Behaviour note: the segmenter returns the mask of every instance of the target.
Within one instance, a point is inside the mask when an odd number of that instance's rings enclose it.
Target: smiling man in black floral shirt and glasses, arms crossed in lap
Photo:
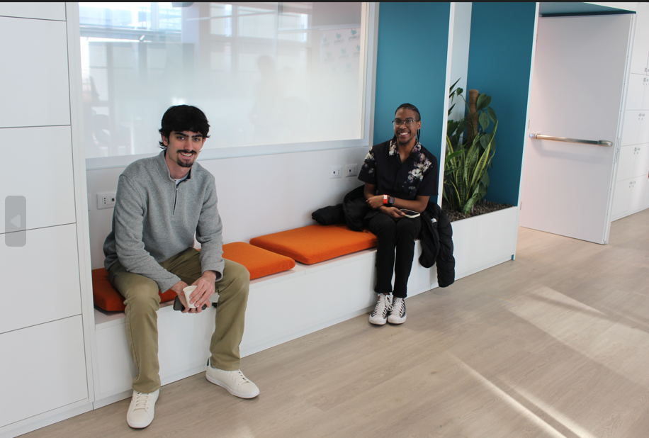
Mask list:
[[[437,159],[419,143],[422,120],[417,107],[402,104],[393,125],[395,136],[371,147],[359,174],[372,208],[363,222],[378,237],[374,288],[378,296],[370,315],[376,325],[406,320],[404,299],[422,218],[407,218],[400,209],[422,213],[429,198],[437,195]]]

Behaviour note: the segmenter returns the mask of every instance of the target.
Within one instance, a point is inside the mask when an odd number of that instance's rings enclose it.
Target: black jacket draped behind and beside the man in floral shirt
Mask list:
[[[363,218],[371,211],[363,196],[365,186],[357,187],[345,195],[342,208],[347,226],[354,231],[363,230]],[[451,286],[455,281],[455,259],[453,258],[453,229],[439,206],[429,202],[422,213],[422,255],[419,263],[424,268],[437,264],[437,284],[441,288]]]

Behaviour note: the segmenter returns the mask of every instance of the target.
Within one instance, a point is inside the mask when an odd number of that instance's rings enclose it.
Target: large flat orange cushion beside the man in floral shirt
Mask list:
[[[376,247],[371,232],[352,231],[343,224],[308,225],[273,234],[254,237],[251,245],[305,264],[314,264],[351,252]]]

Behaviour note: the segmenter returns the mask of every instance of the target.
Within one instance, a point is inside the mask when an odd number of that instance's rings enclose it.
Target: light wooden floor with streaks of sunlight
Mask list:
[[[147,429],[123,400],[24,436],[649,437],[649,210],[606,246],[521,228],[514,262],[407,306],[244,358],[254,400],[198,374]]]

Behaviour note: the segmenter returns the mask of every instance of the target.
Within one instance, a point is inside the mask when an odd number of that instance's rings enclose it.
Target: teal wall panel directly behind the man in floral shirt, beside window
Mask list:
[[[375,144],[393,137],[397,106],[412,103],[422,114],[422,145],[440,162],[450,11],[450,3],[380,4]]]

